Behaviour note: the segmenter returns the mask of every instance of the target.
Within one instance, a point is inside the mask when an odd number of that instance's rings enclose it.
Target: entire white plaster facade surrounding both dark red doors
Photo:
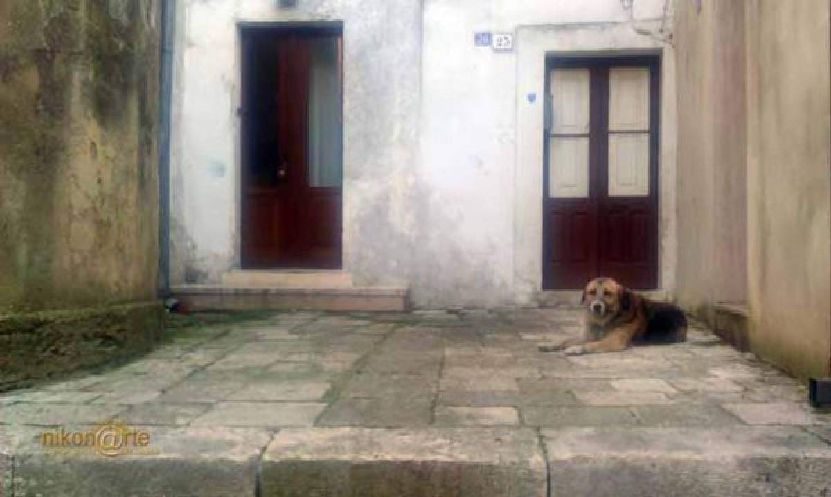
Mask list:
[[[670,91],[667,2],[184,2],[174,283],[215,283],[238,263],[236,22],[344,22],[344,261],[356,283],[409,284],[418,308],[492,308],[533,303],[541,286],[544,52],[662,52]],[[514,32],[514,52],[475,47],[480,31]],[[540,96],[533,105],[529,91]],[[671,291],[675,157],[666,137],[675,117],[666,91],[661,285]]]

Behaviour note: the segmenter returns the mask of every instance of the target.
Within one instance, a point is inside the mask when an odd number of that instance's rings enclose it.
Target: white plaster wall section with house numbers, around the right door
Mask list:
[[[675,281],[671,2],[425,0],[419,180],[431,201],[412,294],[425,307],[533,305],[542,288],[546,52],[662,55],[661,290]],[[514,52],[473,33],[513,32]],[[529,103],[527,94],[537,96]]]

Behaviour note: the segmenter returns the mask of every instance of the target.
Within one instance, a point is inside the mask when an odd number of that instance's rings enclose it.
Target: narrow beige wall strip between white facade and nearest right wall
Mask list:
[[[679,302],[746,299],[743,2],[678,2]]]

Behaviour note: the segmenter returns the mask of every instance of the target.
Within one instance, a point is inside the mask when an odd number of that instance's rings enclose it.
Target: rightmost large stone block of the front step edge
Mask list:
[[[543,430],[550,495],[828,495],[831,446],[795,426]]]

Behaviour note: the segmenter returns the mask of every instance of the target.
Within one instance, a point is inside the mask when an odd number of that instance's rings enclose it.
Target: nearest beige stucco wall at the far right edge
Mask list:
[[[751,346],[829,374],[829,2],[746,2]]]

